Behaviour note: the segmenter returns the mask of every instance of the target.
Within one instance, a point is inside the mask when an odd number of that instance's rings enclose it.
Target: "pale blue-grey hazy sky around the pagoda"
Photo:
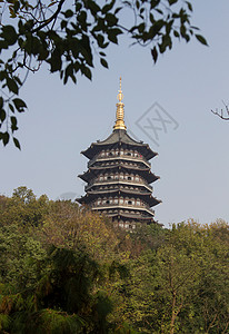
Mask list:
[[[30,75],[21,95],[29,110],[17,135],[22,150],[0,148],[0,193],[11,196],[27,186],[52,199],[83,195],[77,175],[87,159],[80,151],[111,134],[121,75],[128,130],[159,154],[151,160],[160,176],[153,193],[162,199],[156,219],[166,226],[191,217],[202,224],[229,220],[229,121],[210,111],[229,102],[229,2],[198,0],[193,8],[192,23],[209,48],[195,39],[177,42],[155,66],[147,49],[123,39],[108,52],[109,70],[97,66],[92,82],[80,77],[78,86],[63,86],[44,69]],[[151,108],[155,102],[162,109]],[[153,129],[142,131],[138,120],[157,118],[157,110],[170,124],[155,143]],[[162,127],[157,120],[153,126]]]

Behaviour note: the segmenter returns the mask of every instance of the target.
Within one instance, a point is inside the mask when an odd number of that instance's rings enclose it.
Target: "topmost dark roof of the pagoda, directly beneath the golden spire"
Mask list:
[[[97,155],[104,147],[112,147],[117,144],[136,147],[142,154],[142,156],[146,157],[147,160],[158,155],[157,153],[151,150],[148,144],[135,140],[130,137],[130,135],[127,134],[127,130],[123,129],[114,129],[107,139],[92,143],[91,146],[88,149],[81,151],[81,154],[83,154],[87,158],[92,159],[93,156]]]

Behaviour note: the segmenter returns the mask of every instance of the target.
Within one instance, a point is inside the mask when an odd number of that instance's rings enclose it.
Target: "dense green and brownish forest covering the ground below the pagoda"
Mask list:
[[[229,225],[132,233],[76,203],[0,196],[1,333],[228,333]]]

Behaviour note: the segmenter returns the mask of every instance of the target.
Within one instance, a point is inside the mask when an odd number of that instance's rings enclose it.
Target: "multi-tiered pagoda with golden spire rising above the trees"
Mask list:
[[[117,98],[112,134],[81,151],[89,163],[88,170],[79,175],[87,183],[86,195],[77,202],[112,217],[118,226],[131,229],[137,223],[156,223],[151,207],[160,200],[152,196],[151,184],[159,177],[151,173],[149,160],[157,153],[127,134],[121,78]]]

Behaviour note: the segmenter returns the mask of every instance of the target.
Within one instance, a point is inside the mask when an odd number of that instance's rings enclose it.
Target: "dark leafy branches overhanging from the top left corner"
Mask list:
[[[118,43],[121,35],[133,43],[149,47],[153,61],[172,48],[173,39],[187,42],[195,35],[192,6],[185,0],[1,0],[0,13],[0,140],[7,145],[18,129],[17,112],[27,104],[19,98],[29,72],[48,63],[50,72],[59,72],[67,84],[77,84],[77,75],[92,78],[94,56],[108,68],[104,50]],[[122,20],[122,12],[132,22]],[[129,21],[129,19],[128,19]]]

